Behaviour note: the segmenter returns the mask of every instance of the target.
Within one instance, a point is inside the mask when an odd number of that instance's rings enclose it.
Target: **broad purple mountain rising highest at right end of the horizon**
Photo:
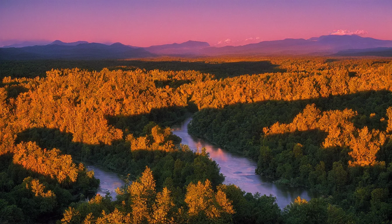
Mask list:
[[[261,55],[307,55],[332,54],[345,49],[392,47],[392,40],[377,40],[358,35],[327,35],[318,38],[284,39],[262,41],[244,46],[206,47],[199,51],[206,55],[261,54]]]

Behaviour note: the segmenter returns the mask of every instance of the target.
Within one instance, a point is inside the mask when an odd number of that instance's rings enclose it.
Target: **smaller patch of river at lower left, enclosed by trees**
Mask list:
[[[88,170],[94,170],[94,177],[100,179],[100,185],[97,193],[101,196],[105,196],[106,192],[109,191],[110,195],[113,197],[113,200],[116,200],[116,188],[121,188],[124,185],[124,182],[118,177],[116,173],[104,171],[97,166],[90,165],[87,166]]]

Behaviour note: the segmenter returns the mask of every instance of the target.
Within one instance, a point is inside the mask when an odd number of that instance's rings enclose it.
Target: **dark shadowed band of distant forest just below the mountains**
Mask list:
[[[140,60],[22,60],[0,62],[0,78],[11,76],[13,78],[44,77],[46,71],[51,69],[75,68],[89,71],[122,69],[132,71],[135,69],[163,71],[195,70],[201,73],[214,74],[216,78],[225,78],[236,75],[284,72],[279,65],[269,60],[258,58],[255,61],[241,61],[241,58],[221,60],[219,58],[151,58]]]

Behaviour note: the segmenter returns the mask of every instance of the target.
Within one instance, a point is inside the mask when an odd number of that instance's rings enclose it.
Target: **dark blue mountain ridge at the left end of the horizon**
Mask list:
[[[98,43],[78,45],[48,44],[20,48],[0,48],[1,60],[29,59],[125,59],[151,57],[154,54],[142,48],[132,48],[121,43],[110,46]]]

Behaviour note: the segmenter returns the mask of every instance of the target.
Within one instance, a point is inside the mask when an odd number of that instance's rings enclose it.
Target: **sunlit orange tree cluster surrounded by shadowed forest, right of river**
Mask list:
[[[308,131],[320,129],[328,132],[323,146],[348,146],[352,149],[348,154],[353,158],[349,164],[368,166],[376,162],[376,153],[385,142],[385,133],[373,129],[369,133],[367,127],[357,129],[348,121],[356,113],[352,110],[321,111],[316,105],[307,105],[303,113],[299,113],[290,124],[275,123],[271,127],[264,127],[266,135],[284,134],[294,131]]]

